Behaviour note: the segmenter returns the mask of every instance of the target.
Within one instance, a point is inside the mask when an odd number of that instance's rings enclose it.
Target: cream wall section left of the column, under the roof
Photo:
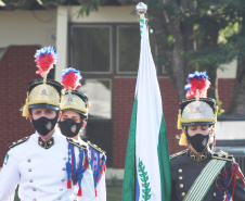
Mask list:
[[[1,11],[0,48],[8,46],[55,46],[56,10]]]

